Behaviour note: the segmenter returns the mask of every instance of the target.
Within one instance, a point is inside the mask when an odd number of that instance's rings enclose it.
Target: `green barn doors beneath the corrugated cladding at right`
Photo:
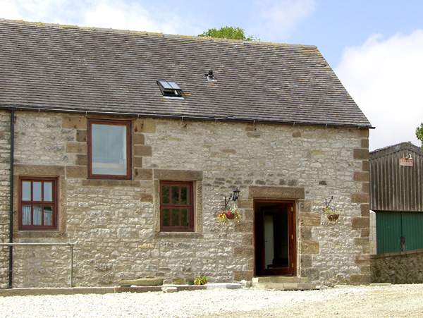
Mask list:
[[[376,212],[377,253],[423,248],[423,213]]]

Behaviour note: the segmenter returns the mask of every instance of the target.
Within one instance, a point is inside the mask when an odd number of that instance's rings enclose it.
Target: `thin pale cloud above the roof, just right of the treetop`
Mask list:
[[[251,32],[266,41],[288,37],[299,23],[314,12],[315,7],[315,0],[255,1],[258,21]]]

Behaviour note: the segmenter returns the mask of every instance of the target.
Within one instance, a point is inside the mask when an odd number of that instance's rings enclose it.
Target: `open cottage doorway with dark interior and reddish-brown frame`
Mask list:
[[[295,274],[293,202],[255,202],[255,274]]]

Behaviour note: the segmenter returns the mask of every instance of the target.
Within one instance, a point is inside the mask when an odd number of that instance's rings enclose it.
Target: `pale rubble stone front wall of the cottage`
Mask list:
[[[252,279],[257,193],[295,200],[299,276],[369,283],[368,130],[137,119],[132,137],[132,180],[87,179],[87,117],[16,113],[15,241],[76,243],[75,286]],[[59,177],[58,231],[18,231],[18,176]],[[159,231],[159,180],[194,181],[194,233]],[[224,225],[216,216],[235,186],[243,221]],[[331,196],[336,222],[321,213]],[[14,287],[68,285],[66,247],[20,247],[13,260]]]

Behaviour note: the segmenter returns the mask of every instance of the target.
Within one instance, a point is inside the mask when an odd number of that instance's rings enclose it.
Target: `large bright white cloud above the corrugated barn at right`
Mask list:
[[[399,142],[420,145],[415,129],[423,121],[423,30],[388,39],[372,35],[343,51],[336,74],[375,130],[372,151]]]

